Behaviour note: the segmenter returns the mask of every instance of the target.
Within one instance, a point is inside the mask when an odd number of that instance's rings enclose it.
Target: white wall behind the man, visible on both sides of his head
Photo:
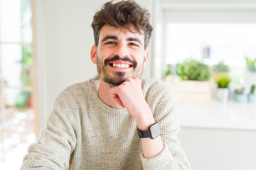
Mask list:
[[[44,62],[45,65],[39,70],[39,74],[43,74],[39,84],[39,90],[42,90],[39,96],[40,129],[45,127],[45,119],[60,91],[97,74],[96,65],[90,60],[90,50],[94,44],[90,24],[95,12],[99,11],[105,2],[106,0],[36,1],[36,38],[40,45],[38,52],[41,52],[38,54],[41,60],[38,61]],[[149,12],[152,11],[152,0],[138,2],[148,8]],[[144,77],[150,77],[150,65],[151,60],[144,70]]]

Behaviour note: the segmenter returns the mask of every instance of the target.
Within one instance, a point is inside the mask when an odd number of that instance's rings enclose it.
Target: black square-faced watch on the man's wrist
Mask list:
[[[139,138],[150,137],[151,139],[154,139],[159,135],[161,135],[161,128],[159,123],[154,123],[149,127],[149,130],[139,130],[138,128],[138,132],[139,132]]]

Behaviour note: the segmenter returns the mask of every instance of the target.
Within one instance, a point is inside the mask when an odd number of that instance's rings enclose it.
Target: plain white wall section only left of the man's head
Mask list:
[[[97,74],[90,60],[93,13],[103,1],[45,0],[47,113],[56,96]]]

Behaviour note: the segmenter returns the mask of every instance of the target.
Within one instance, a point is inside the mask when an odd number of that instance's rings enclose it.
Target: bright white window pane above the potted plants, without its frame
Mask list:
[[[168,23],[166,63],[193,57],[245,66],[245,57],[256,56],[256,24]]]

